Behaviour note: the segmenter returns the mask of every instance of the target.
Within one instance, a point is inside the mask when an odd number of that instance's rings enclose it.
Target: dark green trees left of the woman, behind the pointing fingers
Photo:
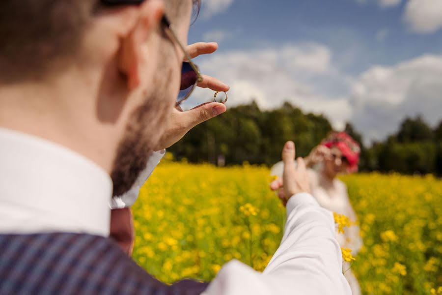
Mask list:
[[[169,151],[194,163],[216,163],[223,155],[228,165],[272,165],[280,160],[286,141],[295,141],[297,154],[305,156],[330,131],[327,118],[304,114],[289,103],[261,111],[253,102],[196,126]]]

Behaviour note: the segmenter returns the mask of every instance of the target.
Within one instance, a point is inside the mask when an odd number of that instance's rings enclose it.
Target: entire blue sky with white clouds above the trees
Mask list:
[[[442,119],[441,0],[202,0],[195,61],[231,86],[229,105],[284,100],[384,139],[406,115]],[[190,104],[207,101],[197,91]]]

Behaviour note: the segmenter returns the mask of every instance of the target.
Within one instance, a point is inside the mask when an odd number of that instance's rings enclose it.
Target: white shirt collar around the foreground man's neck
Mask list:
[[[111,177],[82,155],[0,128],[0,233],[109,236]]]

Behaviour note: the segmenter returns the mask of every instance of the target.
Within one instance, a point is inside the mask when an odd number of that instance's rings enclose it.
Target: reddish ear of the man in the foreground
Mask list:
[[[120,36],[118,68],[127,77],[129,90],[138,87],[140,82],[140,61],[142,60],[142,43],[156,31],[164,14],[164,3],[161,0],[149,0],[136,7],[131,26]]]

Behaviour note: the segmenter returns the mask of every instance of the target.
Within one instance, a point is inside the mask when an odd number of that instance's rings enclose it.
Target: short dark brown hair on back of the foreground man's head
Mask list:
[[[0,0],[0,84],[40,80],[78,55],[98,6],[142,0]],[[170,2],[178,2],[170,0]],[[201,6],[193,0],[195,15]]]

